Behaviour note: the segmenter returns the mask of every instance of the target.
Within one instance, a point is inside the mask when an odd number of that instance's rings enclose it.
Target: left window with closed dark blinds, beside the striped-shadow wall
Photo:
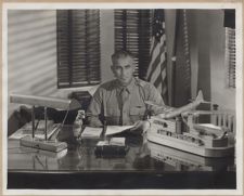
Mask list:
[[[59,10],[56,31],[57,88],[100,83],[99,10]]]

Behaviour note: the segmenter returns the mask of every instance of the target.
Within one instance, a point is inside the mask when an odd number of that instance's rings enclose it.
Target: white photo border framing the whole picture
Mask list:
[[[243,10],[241,2],[220,3],[2,3],[2,171],[4,195],[240,195],[243,194],[243,132],[236,131],[236,190],[7,190],[8,11],[56,9],[234,9],[236,24],[236,130],[243,130]]]

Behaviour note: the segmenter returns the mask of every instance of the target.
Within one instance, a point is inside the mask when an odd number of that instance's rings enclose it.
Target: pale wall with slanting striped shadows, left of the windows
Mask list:
[[[9,93],[56,93],[55,24],[54,11],[8,12]]]

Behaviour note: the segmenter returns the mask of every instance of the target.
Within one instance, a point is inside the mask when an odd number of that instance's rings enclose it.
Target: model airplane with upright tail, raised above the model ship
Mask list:
[[[197,94],[195,101],[193,101],[192,103],[189,103],[189,104],[187,104],[182,107],[178,107],[178,108],[170,107],[170,106],[167,106],[167,105],[156,105],[156,104],[154,104],[153,102],[150,102],[150,101],[145,102],[145,104],[147,104],[150,106],[154,106],[154,107],[157,107],[158,109],[162,109],[163,113],[160,113],[158,116],[160,118],[164,118],[164,119],[174,118],[174,117],[177,117],[177,116],[181,115],[184,112],[189,112],[191,109],[194,109],[201,103],[209,103],[209,102],[204,101],[202,91],[198,91],[198,94]]]

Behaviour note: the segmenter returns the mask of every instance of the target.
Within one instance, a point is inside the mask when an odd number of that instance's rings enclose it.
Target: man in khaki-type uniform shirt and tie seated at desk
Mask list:
[[[112,55],[111,69],[115,80],[100,86],[88,108],[88,121],[92,127],[103,125],[129,126],[134,129],[144,126],[150,109],[145,101],[163,105],[164,101],[155,87],[133,77],[133,56],[127,51]],[[153,109],[156,113],[156,109]]]

